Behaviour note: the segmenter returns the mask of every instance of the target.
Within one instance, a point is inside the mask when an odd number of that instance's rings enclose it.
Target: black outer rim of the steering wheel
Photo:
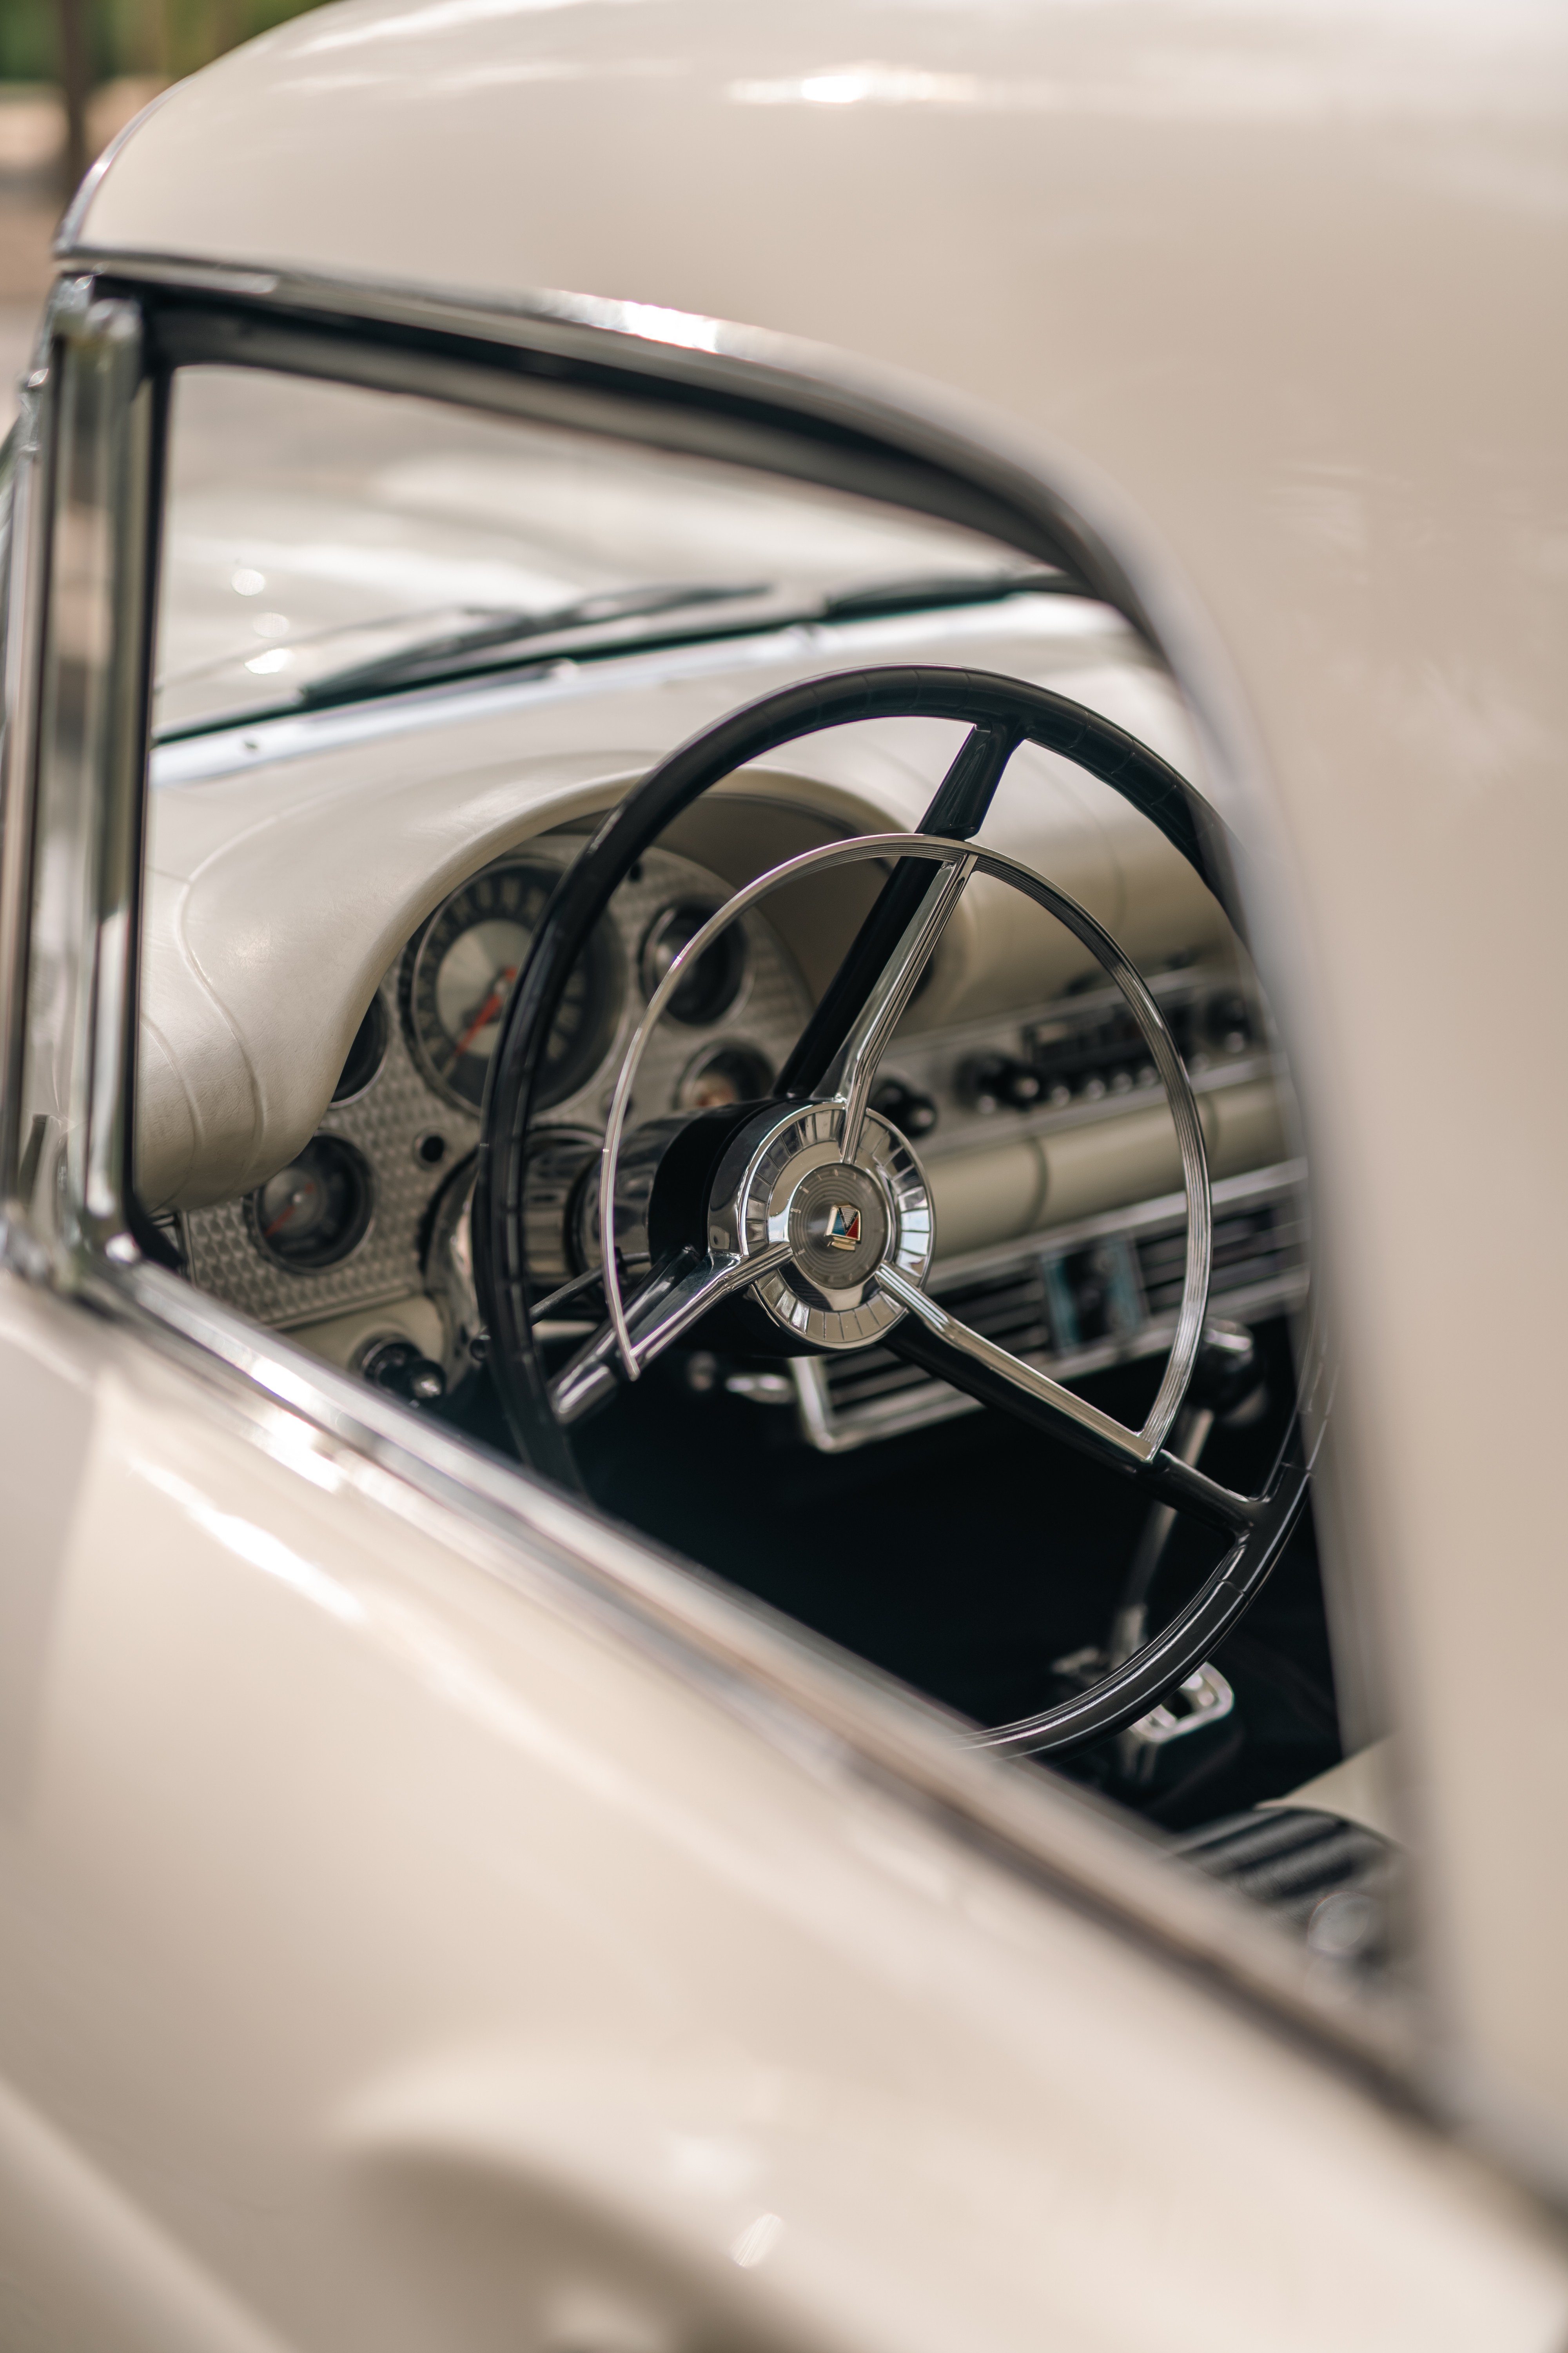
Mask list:
[[[1246,936],[1227,833],[1208,802],[1124,729],[1025,680],[924,666],[835,673],[766,694],[672,751],[609,812],[562,875],[512,988],[484,1101],[473,1257],[489,1365],[524,1461],[559,1485],[581,1492],[571,1442],[552,1412],[531,1332],[522,1191],[545,1042],[569,974],[630,866],[710,786],[804,734],[872,718],[945,718],[971,727],[922,833],[969,838],[978,831],[1001,767],[1020,741],[1032,741],[1084,767],[1157,824],[1220,901],[1232,927]],[[884,896],[893,894],[896,882],[898,873]],[[825,1007],[827,998],[813,1021]],[[792,1061],[809,1052],[809,1038],[811,1031]],[[1016,1412],[1013,1398],[987,1395],[983,1381],[964,1386]],[[1034,1718],[992,1727],[980,1734],[987,1746],[1065,1753],[1126,1727],[1185,1680],[1251,1607],[1307,1494],[1309,1459],[1300,1407],[1260,1497],[1227,1497],[1201,1473],[1182,1478],[1182,1471],[1185,1466],[1161,1457],[1145,1482],[1178,1508],[1197,1508],[1213,1525],[1227,1527],[1234,1541],[1225,1558],[1171,1624],[1103,1682]],[[1215,1504],[1215,1497],[1222,1501]]]

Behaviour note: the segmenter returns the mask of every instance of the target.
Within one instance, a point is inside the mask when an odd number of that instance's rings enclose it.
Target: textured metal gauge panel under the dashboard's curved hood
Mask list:
[[[576,856],[545,835],[491,861],[421,922],[383,976],[317,1134],[244,1200],[179,1219],[193,1282],[275,1327],[364,1325],[428,1287],[442,1205],[465,1186],[508,993],[545,901]],[[691,859],[649,849],[616,892],[548,1045],[545,1136],[590,1158],[621,1054],[675,955],[731,894]],[[649,1042],[637,1118],[766,1094],[809,995],[764,918],[722,934]],[[369,1322],[367,1322],[367,1311]],[[334,1351],[341,1353],[341,1351]]]

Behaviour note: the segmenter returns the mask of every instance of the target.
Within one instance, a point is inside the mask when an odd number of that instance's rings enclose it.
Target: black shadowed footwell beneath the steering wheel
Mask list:
[[[1293,1395],[1284,1320],[1258,1339],[1269,1409],[1251,1428],[1218,1428],[1204,1454],[1206,1471],[1246,1489],[1262,1485]],[[1159,1372],[1161,1360],[1145,1360],[1079,1386],[1138,1424]],[[494,1400],[475,1400],[465,1419],[496,1442]],[[1051,1661],[1105,1640],[1145,1518],[1131,1482],[1004,1414],[818,1454],[780,1407],[722,1388],[693,1395],[679,1355],[574,1431],[574,1445],[602,1511],[976,1722],[1060,1697]],[[1175,1522],[1154,1624],[1208,1574],[1218,1541]],[[1241,1737],[1213,1744],[1190,1784],[1131,1800],[1171,1828],[1284,1795],[1340,1755],[1309,1518],[1213,1664],[1237,1692]],[[1110,1784],[1110,1765],[1100,1744],[1056,1769]]]

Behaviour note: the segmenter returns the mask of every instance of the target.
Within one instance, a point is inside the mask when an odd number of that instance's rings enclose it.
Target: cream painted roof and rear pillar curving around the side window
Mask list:
[[[1253,861],[1446,2073],[1559,2181],[1566,49],[1556,0],[353,0],[78,221],[863,369],[1107,529]]]

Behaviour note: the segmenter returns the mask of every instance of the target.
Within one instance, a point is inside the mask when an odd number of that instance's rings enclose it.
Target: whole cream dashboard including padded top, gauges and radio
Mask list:
[[[473,1369],[463,1207],[505,991],[599,812],[780,678],[867,656],[964,659],[1114,715],[1192,767],[1168,682],[1098,607],[790,631],[569,664],[383,708],[252,722],[153,762],[139,1174],[188,1275],[411,1402]],[[529,1176],[536,1297],[595,1247],[592,1169],[621,1054],[670,958],[736,887],[823,840],[919,824],[950,758],[931,722],[790,748],[670,828],[567,993]],[[1215,1181],[1220,1311],[1302,1297],[1300,1169],[1251,972],[1213,904],[1114,795],[1023,746],[987,838],[1070,889],[1164,1002]],[[632,1127],[764,1094],[877,889],[875,868],[752,908],[654,1033]],[[837,896],[835,896],[837,894]],[[877,1108],[926,1169],[938,1299],[1058,1377],[1168,1346],[1185,1209],[1175,1134],[1098,967],[1027,901],[973,882],[884,1061]],[[550,1329],[571,1339],[569,1301]],[[773,1362],[693,1348],[693,1391],[844,1452],[969,1412],[884,1351]]]

